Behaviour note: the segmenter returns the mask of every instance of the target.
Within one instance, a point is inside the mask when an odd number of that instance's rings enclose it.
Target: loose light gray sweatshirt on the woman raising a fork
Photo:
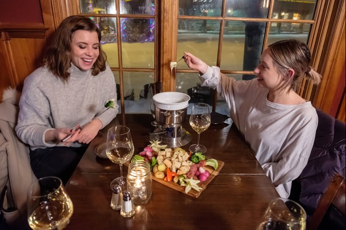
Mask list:
[[[232,120],[281,197],[303,171],[311,153],[318,123],[310,102],[281,105],[267,100],[269,89],[257,79],[236,81],[208,67],[202,86],[216,88],[225,98]]]

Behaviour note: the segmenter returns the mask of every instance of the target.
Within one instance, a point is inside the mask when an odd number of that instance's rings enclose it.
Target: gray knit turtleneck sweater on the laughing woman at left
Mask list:
[[[92,76],[91,71],[82,71],[71,63],[67,82],[41,67],[24,81],[19,102],[19,117],[16,126],[18,137],[32,150],[63,146],[44,141],[44,134],[53,128],[74,129],[92,118],[102,121],[102,128],[117,114],[116,108],[105,108],[109,99],[117,101],[116,84],[109,66],[104,72]],[[75,142],[72,147],[82,144]]]

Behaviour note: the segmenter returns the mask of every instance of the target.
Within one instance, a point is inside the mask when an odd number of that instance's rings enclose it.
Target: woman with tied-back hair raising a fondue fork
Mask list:
[[[303,77],[319,83],[310,50],[295,39],[269,45],[254,70],[257,78],[236,81],[185,52],[185,63],[200,72],[202,86],[217,89],[230,115],[277,192],[288,197],[309,158],[318,117],[311,102],[296,93]]]

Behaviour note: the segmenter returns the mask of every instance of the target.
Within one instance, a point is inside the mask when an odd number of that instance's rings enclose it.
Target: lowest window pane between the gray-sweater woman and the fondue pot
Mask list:
[[[145,85],[154,83],[154,79],[154,72],[123,72],[126,114],[150,114],[150,103],[145,98]],[[116,82],[120,84],[119,77]],[[120,105],[119,101],[118,103]]]

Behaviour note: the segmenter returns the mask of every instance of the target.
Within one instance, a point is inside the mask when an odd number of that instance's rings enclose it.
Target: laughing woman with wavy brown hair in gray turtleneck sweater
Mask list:
[[[38,178],[57,176],[66,184],[87,144],[118,114],[117,104],[105,107],[107,101],[117,101],[117,92],[100,41],[91,19],[64,19],[43,66],[25,79],[16,132],[30,146]]]

